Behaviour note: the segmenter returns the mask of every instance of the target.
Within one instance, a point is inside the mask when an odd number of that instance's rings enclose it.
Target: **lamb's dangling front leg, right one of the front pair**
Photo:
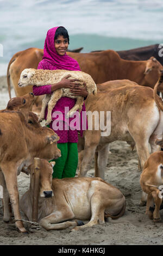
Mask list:
[[[53,110],[55,104],[57,103],[57,101],[62,97],[62,94],[63,94],[62,89],[55,90],[55,92],[52,94],[51,100],[49,100],[49,102],[48,102],[48,114],[47,114],[45,125],[48,125],[51,123],[52,110]]]

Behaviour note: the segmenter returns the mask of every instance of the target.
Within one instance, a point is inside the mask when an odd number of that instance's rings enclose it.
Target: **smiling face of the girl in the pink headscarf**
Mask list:
[[[59,35],[58,38],[54,41],[55,50],[59,55],[64,55],[68,48],[68,39],[64,36]]]

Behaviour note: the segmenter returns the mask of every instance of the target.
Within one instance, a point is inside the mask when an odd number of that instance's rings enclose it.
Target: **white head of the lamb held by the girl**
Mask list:
[[[35,69],[24,69],[21,72],[20,80],[18,80],[18,87],[34,86]]]

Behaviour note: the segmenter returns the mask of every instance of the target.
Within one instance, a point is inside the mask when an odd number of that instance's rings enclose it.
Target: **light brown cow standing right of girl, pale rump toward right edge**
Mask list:
[[[108,92],[98,92],[94,97],[87,97],[86,111],[92,113],[97,111],[99,116],[100,111],[105,111],[105,113],[111,111],[111,133],[109,136],[101,136],[102,129],[95,130],[95,126],[92,131],[84,131],[84,138],[79,141],[79,151],[84,149],[79,176],[86,175],[87,164],[91,161],[95,151],[98,151],[99,175],[104,179],[108,143],[116,140],[127,141],[129,144],[135,142],[143,169],[143,164],[149,156],[148,142],[154,152],[159,149],[155,145],[155,139],[162,139],[163,108],[161,111],[162,101],[156,95],[158,86],[157,83],[155,90],[138,85],[124,86],[110,89]]]

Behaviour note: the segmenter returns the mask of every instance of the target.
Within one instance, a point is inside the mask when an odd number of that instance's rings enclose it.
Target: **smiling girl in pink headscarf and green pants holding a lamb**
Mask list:
[[[69,44],[69,36],[67,30],[64,27],[54,27],[49,29],[45,39],[45,45],[43,48],[43,57],[39,63],[37,69],[65,69],[65,70],[80,70],[79,64],[76,60],[72,59],[66,54],[66,50]],[[65,87],[70,88],[70,92],[73,95],[87,96],[86,84],[85,87],[79,87],[78,80],[68,79],[70,76],[66,76],[59,83],[52,85],[45,85],[41,87],[33,87],[34,95],[52,94],[55,90]],[[61,157],[55,161],[55,166],[53,167],[53,178],[70,178],[76,175],[76,170],[78,166],[78,131],[77,129],[71,130],[70,123],[73,118],[70,118],[69,122],[65,118],[65,107],[71,109],[76,102],[76,99],[71,99],[69,97],[61,97],[58,100],[52,111],[52,122],[49,125],[57,135],[60,137],[58,141],[58,148],[61,150]],[[62,127],[63,129],[57,130],[54,128],[53,121],[56,120],[54,117],[54,112],[57,111],[62,113]],[[83,105],[82,111],[85,111],[85,105]],[[85,112],[80,113],[80,136],[83,134],[81,129]],[[47,108],[45,113],[45,118],[47,116]],[[60,121],[59,121],[60,122]],[[87,121],[86,121],[87,122]],[[86,128],[87,129],[87,123]]]

